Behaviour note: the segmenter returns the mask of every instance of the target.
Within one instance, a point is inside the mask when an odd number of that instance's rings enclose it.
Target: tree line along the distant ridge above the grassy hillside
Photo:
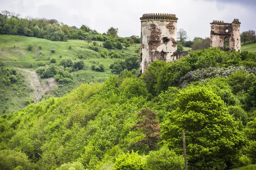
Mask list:
[[[100,34],[95,29],[89,26],[82,25],[80,28],[76,26],[68,26],[64,23],[59,23],[55,19],[46,18],[21,18],[20,14],[15,14],[10,11],[2,11],[0,13],[0,34],[22,35],[27,37],[44,38],[52,41],[67,41],[67,40],[87,40],[106,41],[113,43],[121,42],[127,48],[134,43],[140,43],[140,39],[136,36],[131,38],[122,38],[118,36],[118,28],[109,28],[106,33]],[[108,48],[113,48],[116,45],[106,45]]]

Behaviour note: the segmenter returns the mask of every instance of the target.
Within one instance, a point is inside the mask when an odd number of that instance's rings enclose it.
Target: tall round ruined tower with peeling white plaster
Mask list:
[[[144,14],[140,20],[140,73],[154,60],[176,60],[178,18],[175,14]]]

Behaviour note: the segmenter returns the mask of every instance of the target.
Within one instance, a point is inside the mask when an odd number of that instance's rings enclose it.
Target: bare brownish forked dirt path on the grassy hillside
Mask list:
[[[35,92],[35,102],[40,102],[40,96],[45,94],[46,91],[53,91],[56,85],[55,79],[53,77],[46,80],[46,83],[40,83],[40,77],[35,71],[30,71],[24,68],[15,68],[26,75],[26,78]]]

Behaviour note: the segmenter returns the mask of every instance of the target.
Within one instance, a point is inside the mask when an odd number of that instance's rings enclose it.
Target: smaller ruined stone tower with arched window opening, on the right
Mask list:
[[[232,23],[214,20],[211,24],[211,47],[223,50],[241,51],[240,22],[234,19]]]

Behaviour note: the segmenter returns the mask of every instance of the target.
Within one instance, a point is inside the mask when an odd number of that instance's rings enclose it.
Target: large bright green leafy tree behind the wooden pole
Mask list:
[[[175,106],[160,125],[162,144],[181,154],[184,129],[190,169],[224,170],[235,163],[244,136],[220,97],[205,87],[190,86],[177,95]]]

